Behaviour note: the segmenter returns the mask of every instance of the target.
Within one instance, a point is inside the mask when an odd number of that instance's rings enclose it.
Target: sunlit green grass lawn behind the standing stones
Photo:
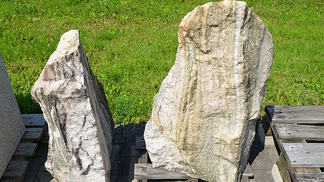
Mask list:
[[[182,18],[209,1],[0,1],[0,53],[22,113],[40,113],[30,89],[60,36],[79,29],[115,123],[150,118],[174,64]],[[274,40],[263,105],[324,105],[324,2],[248,1]]]

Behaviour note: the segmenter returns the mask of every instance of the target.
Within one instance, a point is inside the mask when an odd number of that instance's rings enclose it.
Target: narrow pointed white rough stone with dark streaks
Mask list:
[[[49,125],[45,167],[53,177],[59,181],[110,181],[114,123],[78,30],[62,35],[31,94]]]

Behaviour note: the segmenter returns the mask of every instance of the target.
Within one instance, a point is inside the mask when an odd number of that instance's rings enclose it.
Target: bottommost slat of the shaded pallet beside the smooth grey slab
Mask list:
[[[20,178],[25,175],[27,170],[28,161],[10,161],[4,174],[3,178]]]

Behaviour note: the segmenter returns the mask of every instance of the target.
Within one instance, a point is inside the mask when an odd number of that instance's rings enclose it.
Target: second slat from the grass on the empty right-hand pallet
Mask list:
[[[324,126],[274,123],[279,139],[324,141]]]

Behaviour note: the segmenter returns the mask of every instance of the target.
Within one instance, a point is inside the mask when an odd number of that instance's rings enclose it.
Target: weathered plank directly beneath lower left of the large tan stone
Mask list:
[[[135,179],[189,179],[190,177],[163,168],[153,168],[152,164],[135,164]]]

